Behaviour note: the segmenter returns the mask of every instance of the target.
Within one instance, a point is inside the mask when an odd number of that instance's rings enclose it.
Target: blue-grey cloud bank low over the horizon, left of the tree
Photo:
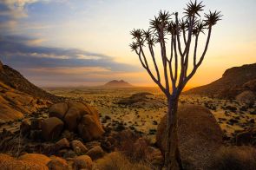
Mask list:
[[[141,72],[134,65],[115,62],[113,56],[31,43],[36,41],[23,36],[0,36],[0,60],[38,85],[107,82],[109,78]]]

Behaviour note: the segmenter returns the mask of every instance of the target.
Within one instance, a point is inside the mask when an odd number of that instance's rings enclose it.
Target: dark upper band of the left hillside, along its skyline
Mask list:
[[[36,87],[15,69],[11,69],[9,66],[3,65],[2,62],[0,62],[0,82],[3,82],[10,88],[14,88],[20,92],[41,99],[47,99],[49,101],[56,101],[60,99],[59,97],[56,97],[56,95],[51,95],[43,89]]]

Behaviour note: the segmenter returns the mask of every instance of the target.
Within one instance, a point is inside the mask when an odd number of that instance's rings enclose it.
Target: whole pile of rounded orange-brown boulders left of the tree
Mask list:
[[[102,134],[105,133],[95,108],[75,101],[52,105],[47,119],[23,120],[20,130],[23,137],[33,141],[57,140],[62,134],[62,140],[56,142],[56,150],[69,147],[67,139],[74,139],[71,134],[79,134],[83,141],[92,141],[101,139]],[[76,153],[84,154],[87,151],[80,141],[72,141],[71,146]]]

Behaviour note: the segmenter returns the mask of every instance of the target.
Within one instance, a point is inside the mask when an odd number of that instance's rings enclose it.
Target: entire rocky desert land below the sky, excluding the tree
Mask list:
[[[128,87],[124,81],[37,88],[15,69],[0,66],[3,169],[161,169],[167,101],[159,88]],[[225,83],[232,75],[223,75]],[[255,80],[243,80],[230,99],[194,89],[181,95],[178,136],[185,169],[226,169],[237,154],[246,154],[246,160],[235,157],[240,169],[255,167],[255,149],[248,147],[256,145]],[[221,85],[221,79],[216,82]],[[246,147],[236,147],[241,145]]]

